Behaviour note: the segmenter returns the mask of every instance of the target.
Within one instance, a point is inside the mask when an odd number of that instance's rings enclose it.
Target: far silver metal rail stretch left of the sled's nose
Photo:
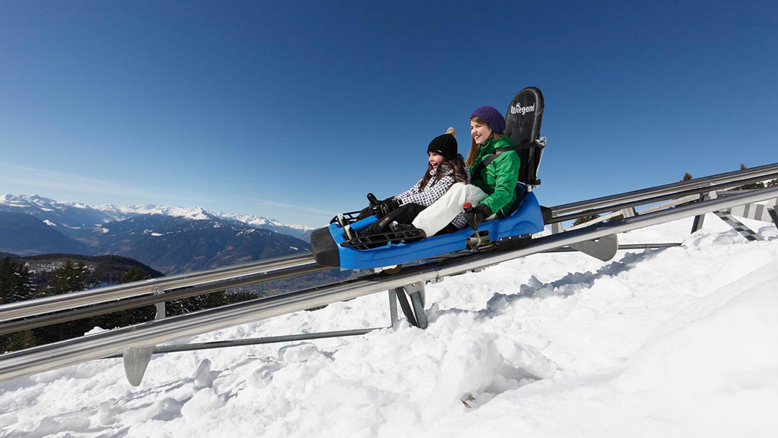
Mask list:
[[[0,322],[53,313],[75,307],[90,306],[122,298],[131,298],[138,295],[148,295],[157,290],[188,288],[209,284],[214,281],[224,281],[273,272],[275,270],[303,267],[314,263],[314,255],[312,253],[296,254],[195,273],[173,275],[172,277],[152,278],[151,280],[133,281],[132,283],[116,284],[104,288],[10,302],[0,305]]]

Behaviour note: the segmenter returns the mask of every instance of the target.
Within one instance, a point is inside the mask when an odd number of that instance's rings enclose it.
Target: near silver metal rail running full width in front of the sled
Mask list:
[[[608,235],[675,221],[711,211],[724,210],[746,203],[769,200],[778,196],[778,187],[757,189],[749,193],[707,200],[695,204],[658,211],[643,216],[628,217],[606,224],[566,231],[538,238],[531,245],[513,251],[478,253],[463,259],[444,260],[409,267],[400,274],[373,274],[354,280],[330,284],[285,295],[275,295],[209,309],[163,320],[140,323],[131,327],[99,334],[40,345],[22,351],[0,355],[0,380],[56,369],[79,362],[100,359],[129,348],[149,347],[180,337],[195,336],[233,327],[242,323],[264,320],[331,302],[338,302],[387,289],[401,288],[419,281],[441,281],[443,277],[478,270],[518,257],[561,248],[563,246],[604,238]]]

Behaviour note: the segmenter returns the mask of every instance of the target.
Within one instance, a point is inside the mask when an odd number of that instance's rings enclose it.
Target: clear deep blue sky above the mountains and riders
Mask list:
[[[324,224],[527,86],[548,206],[778,161],[778,6],[688,3],[5,1],[0,193]]]

